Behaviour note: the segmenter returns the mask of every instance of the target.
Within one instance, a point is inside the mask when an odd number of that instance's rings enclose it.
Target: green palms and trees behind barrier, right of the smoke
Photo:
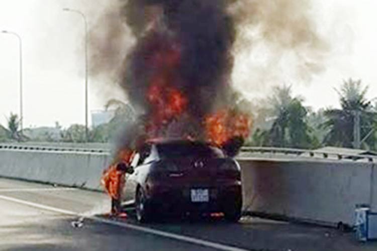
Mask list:
[[[257,109],[248,144],[260,147],[315,149],[323,146],[377,150],[377,106],[366,98],[361,80],[344,80],[336,90],[340,108],[313,111],[291,86],[275,87]],[[355,138],[355,136],[357,136]]]

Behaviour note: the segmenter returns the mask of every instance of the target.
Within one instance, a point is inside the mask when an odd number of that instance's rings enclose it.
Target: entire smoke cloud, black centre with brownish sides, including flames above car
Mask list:
[[[213,126],[210,135],[237,138],[239,147],[247,135],[237,133],[240,124],[241,131],[250,124],[238,114],[235,57],[239,64],[245,48],[252,53],[254,45],[266,46],[263,67],[249,69],[250,79],[260,74],[264,82],[287,52],[299,75],[321,71],[327,47],[309,10],[309,0],[120,0],[93,29],[92,72],[115,79],[141,114],[128,132],[206,139]],[[235,73],[237,67],[233,79]],[[246,89],[255,84],[249,81]],[[219,132],[219,124],[233,134]],[[130,137],[122,142],[130,146]],[[226,140],[217,139],[230,148]]]

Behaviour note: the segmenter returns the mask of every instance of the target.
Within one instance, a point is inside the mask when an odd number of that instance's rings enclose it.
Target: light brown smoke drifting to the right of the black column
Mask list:
[[[330,51],[316,22],[312,0],[236,1],[233,79],[245,91],[288,82],[310,83],[325,70]]]

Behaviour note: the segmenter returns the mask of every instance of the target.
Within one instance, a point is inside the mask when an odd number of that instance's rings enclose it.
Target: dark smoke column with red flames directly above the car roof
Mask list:
[[[125,129],[137,133],[120,137],[119,149],[134,147],[131,142],[138,137],[206,140],[206,116],[221,109],[234,112],[232,2],[120,1],[120,15],[136,42],[121,66],[119,82],[141,115],[133,128]],[[234,142],[239,148],[243,139]],[[226,148],[231,149],[231,142]]]

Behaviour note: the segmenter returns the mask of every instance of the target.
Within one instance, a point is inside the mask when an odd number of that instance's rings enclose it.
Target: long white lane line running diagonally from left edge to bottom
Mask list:
[[[51,206],[46,206],[46,205],[42,205],[42,204],[39,204],[39,203],[30,202],[30,201],[20,200],[20,199],[16,199],[16,198],[4,196],[4,195],[0,195],[0,199],[13,201],[13,202],[16,202],[16,203],[40,208],[40,209],[43,209],[43,210],[49,210],[49,211],[58,212],[58,213],[62,213],[62,214],[85,217],[85,218],[92,219],[92,220],[102,222],[102,223],[106,223],[106,224],[109,224],[109,225],[125,227],[125,228],[129,228],[129,229],[133,229],[133,230],[137,230],[137,231],[141,231],[141,232],[145,232],[145,233],[149,233],[149,234],[167,237],[167,238],[170,238],[170,239],[181,240],[181,241],[194,243],[194,244],[198,244],[198,245],[202,245],[202,246],[212,247],[212,248],[216,248],[216,249],[219,249],[219,250],[248,251],[248,249],[243,249],[243,248],[239,248],[239,247],[235,247],[235,246],[220,244],[220,243],[216,243],[216,242],[212,242],[212,241],[208,241],[208,240],[204,240],[204,239],[199,239],[199,238],[194,238],[194,237],[189,237],[189,236],[185,236],[185,235],[180,235],[180,234],[176,234],[176,233],[165,232],[165,231],[156,230],[156,229],[149,228],[149,227],[133,225],[133,224],[125,223],[125,222],[108,220],[108,219],[104,219],[104,218],[101,218],[101,217],[98,217],[98,216],[85,216],[85,215],[79,214],[77,212],[64,210],[64,209],[51,207]]]

